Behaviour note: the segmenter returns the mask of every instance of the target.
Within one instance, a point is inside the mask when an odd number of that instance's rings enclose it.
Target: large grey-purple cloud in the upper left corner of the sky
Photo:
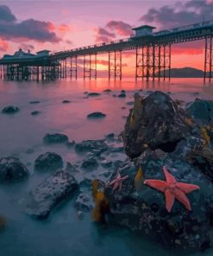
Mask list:
[[[22,22],[16,21],[16,16],[12,14],[5,5],[0,5],[0,36],[4,40],[10,41],[30,41],[37,42],[60,42],[61,39],[55,34],[53,22],[41,22],[28,19]]]

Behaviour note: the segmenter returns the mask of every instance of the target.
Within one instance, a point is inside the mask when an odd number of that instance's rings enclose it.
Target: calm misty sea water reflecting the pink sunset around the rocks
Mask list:
[[[122,89],[125,89],[126,97],[114,97],[120,95]],[[2,182],[0,185],[1,255],[179,255],[177,249],[168,249],[128,228],[113,223],[97,225],[91,218],[91,208],[94,208],[92,181],[108,182],[116,175],[116,170],[128,163],[119,134],[123,131],[129,109],[133,107],[134,94],[144,97],[149,91],[156,90],[164,91],[174,100],[179,99],[182,106],[196,98],[212,99],[212,87],[203,85],[201,80],[175,80],[172,84],[152,85],[132,81],[108,84],[104,80],[95,84],[82,81],[47,84],[1,81],[0,109],[17,106],[19,112],[0,115],[0,158],[18,158],[28,170],[28,176],[22,181]],[[98,94],[86,97],[85,91]],[[70,103],[63,104],[64,100]],[[30,104],[34,101],[38,103]],[[40,114],[32,116],[30,113],[34,111]],[[103,112],[106,116],[87,118],[91,112]],[[64,134],[69,141],[59,143],[57,139],[57,143],[47,143],[43,140],[47,134]],[[92,146],[90,141],[94,140],[97,144]],[[28,196],[33,195],[36,188],[41,188],[41,184],[48,187],[52,182],[49,177],[54,171],[34,170],[35,160],[47,152],[62,157],[63,170],[75,177],[78,187],[68,190],[72,196],[55,204],[54,208],[51,206],[48,217],[38,221],[26,208]],[[195,161],[194,158],[191,161]],[[160,164],[153,167],[160,170]],[[178,170],[179,163],[175,165]],[[164,179],[161,175],[159,177]],[[160,195],[160,200],[162,198]],[[194,207],[197,204],[192,205]],[[207,249],[202,254],[209,256],[212,252],[212,249]],[[182,253],[188,254],[191,252],[187,250]],[[192,254],[200,255],[200,252]]]

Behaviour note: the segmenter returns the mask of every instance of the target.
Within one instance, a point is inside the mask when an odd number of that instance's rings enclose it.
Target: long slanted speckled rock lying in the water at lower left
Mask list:
[[[58,170],[47,177],[28,195],[26,213],[36,219],[46,219],[60,202],[78,189],[78,183],[70,172]]]

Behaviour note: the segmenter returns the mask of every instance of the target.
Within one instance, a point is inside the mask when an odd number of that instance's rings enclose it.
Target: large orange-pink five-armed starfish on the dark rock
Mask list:
[[[163,167],[163,171],[166,176],[166,182],[160,180],[146,180],[144,181],[144,184],[165,193],[166,209],[169,213],[171,212],[175,199],[177,199],[185,206],[185,208],[191,211],[190,201],[185,194],[200,188],[197,185],[177,182],[175,177],[172,176],[168,170],[166,170],[165,166]]]

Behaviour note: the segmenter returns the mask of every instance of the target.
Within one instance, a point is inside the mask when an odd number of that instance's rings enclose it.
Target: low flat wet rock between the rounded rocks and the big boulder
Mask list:
[[[93,154],[99,155],[104,151],[108,150],[108,145],[104,140],[85,140],[81,143],[75,145],[75,150],[78,153],[91,152]]]

